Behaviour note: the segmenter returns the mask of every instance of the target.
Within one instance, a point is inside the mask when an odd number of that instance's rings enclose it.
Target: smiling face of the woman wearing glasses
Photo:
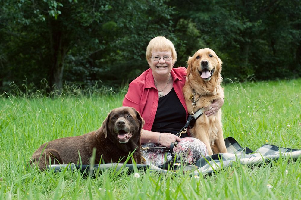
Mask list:
[[[171,57],[171,52],[168,51],[153,51],[152,57],[160,57],[160,60],[154,61],[152,58],[149,59],[148,63],[152,69],[152,74],[156,78],[167,77],[174,66],[172,59],[170,61],[165,61],[163,57]]]

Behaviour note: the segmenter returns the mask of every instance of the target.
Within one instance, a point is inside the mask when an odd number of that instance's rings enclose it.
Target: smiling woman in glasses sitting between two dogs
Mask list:
[[[153,38],[146,48],[146,59],[150,68],[130,83],[123,100],[123,106],[136,108],[145,120],[141,143],[143,146],[158,144],[169,148],[171,143],[179,142],[177,147],[185,147],[184,154],[186,150],[190,153],[189,156],[181,156],[184,161],[194,162],[208,155],[205,144],[201,141],[195,138],[181,139],[175,135],[185,125],[188,112],[182,92],[186,68],[173,68],[177,61],[173,43],[162,36]],[[223,99],[216,100],[211,105],[212,109],[204,114],[215,114],[223,103]],[[182,134],[182,137],[187,136],[187,133]],[[193,142],[193,145],[187,147],[184,142]],[[174,152],[180,153],[177,150],[179,148],[175,147]],[[161,154],[154,156],[148,152],[143,153],[146,163],[160,165],[164,162]],[[167,157],[171,159],[172,156],[168,154]]]

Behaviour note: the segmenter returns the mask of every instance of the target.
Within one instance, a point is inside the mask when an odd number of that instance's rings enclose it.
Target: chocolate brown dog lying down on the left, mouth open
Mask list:
[[[143,124],[144,120],[134,108],[115,108],[97,131],[43,144],[33,153],[30,164],[37,164],[40,169],[47,169],[49,159],[51,164],[77,164],[80,159],[82,164],[89,164],[93,148],[96,148],[95,164],[123,163],[132,152],[136,163],[142,164],[140,137]],[[131,163],[131,159],[128,162]]]

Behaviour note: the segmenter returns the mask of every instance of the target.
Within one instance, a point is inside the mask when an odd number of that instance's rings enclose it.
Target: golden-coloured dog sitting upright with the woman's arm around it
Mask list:
[[[188,112],[196,113],[200,108],[210,109],[215,99],[224,98],[224,89],[221,87],[222,61],[209,48],[199,49],[187,61],[187,77],[183,93]],[[196,102],[196,103],[193,103]],[[213,152],[227,153],[224,142],[221,109],[215,115],[200,116],[190,129],[190,135],[205,143],[209,155]]]

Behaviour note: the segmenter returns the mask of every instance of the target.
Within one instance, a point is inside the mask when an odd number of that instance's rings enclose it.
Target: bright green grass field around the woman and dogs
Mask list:
[[[301,79],[225,86],[224,137],[256,150],[264,143],[301,149]],[[8,98],[9,96],[9,98]],[[122,105],[124,92],[0,98],[0,199],[300,199],[301,158],[262,166],[234,163],[212,176],[137,171],[139,178],[106,170],[96,178],[80,172],[27,169],[44,142],[96,130]]]

